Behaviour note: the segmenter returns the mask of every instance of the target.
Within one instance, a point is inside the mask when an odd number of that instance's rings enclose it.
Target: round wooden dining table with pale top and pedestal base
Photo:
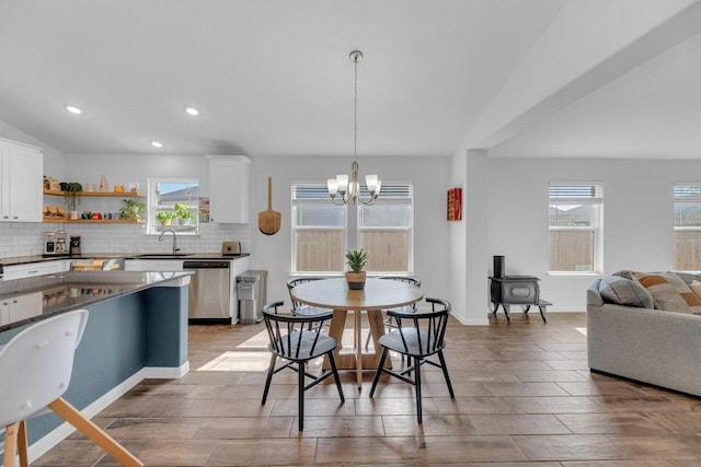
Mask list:
[[[382,310],[411,305],[424,297],[422,290],[413,284],[388,279],[367,279],[364,290],[350,290],[344,278],[322,279],[301,283],[291,290],[294,299],[301,303],[321,308],[333,310],[329,335],[336,339],[338,347],[334,351],[338,369],[355,370],[358,389],[363,387],[363,370],[377,369],[380,357],[377,340],[384,334]],[[352,353],[342,353],[343,331],[346,316],[354,312],[354,349]],[[374,352],[363,353],[361,312],[368,315]],[[386,364],[391,366],[388,358]],[[324,367],[329,362],[324,361]]]

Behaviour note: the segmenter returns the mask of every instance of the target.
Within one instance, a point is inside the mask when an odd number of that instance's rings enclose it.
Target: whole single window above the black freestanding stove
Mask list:
[[[602,187],[551,184],[549,194],[550,272],[600,272]]]

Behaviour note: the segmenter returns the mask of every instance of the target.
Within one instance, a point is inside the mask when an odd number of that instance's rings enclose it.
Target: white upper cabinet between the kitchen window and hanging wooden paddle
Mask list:
[[[251,160],[242,155],[209,156],[209,220],[249,223],[249,172]]]

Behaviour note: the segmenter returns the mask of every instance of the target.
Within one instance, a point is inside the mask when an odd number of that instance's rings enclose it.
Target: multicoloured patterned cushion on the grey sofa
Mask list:
[[[653,295],[655,308],[668,312],[701,313],[701,297],[674,272],[633,272],[633,278]]]

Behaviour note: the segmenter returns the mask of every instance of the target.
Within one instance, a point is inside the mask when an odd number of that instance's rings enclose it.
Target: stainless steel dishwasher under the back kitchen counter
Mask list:
[[[195,270],[189,281],[189,324],[231,324],[231,261],[183,261],[183,270]]]

